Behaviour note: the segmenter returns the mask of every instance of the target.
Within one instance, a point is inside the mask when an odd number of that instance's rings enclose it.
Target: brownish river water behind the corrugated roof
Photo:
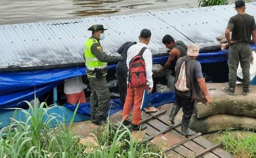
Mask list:
[[[197,7],[197,0],[0,0],[0,24]]]

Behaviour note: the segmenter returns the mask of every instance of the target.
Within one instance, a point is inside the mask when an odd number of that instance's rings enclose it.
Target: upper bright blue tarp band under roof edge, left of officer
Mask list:
[[[46,70],[30,70],[1,72],[0,76],[0,94],[21,90],[24,88],[34,88],[51,84],[56,81],[71,78],[85,74],[85,68],[62,68]],[[1,105],[1,104],[0,104]]]

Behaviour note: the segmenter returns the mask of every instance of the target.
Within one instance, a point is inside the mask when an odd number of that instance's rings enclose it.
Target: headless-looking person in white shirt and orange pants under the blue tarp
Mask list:
[[[64,93],[66,94],[68,103],[76,105],[79,102],[86,102],[82,76],[65,79],[64,82]]]

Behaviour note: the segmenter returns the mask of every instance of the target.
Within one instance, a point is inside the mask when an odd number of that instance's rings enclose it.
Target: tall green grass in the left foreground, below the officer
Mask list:
[[[97,130],[95,144],[81,143],[82,137],[71,132],[75,113],[67,129],[65,121],[56,114],[48,114],[52,107],[32,106],[30,111],[18,109],[27,116],[26,121],[13,120],[0,130],[0,158],[161,158],[156,145],[132,138],[127,127],[117,130],[108,124]],[[61,108],[61,107],[60,107]],[[63,119],[62,119],[63,120]],[[53,122],[57,127],[53,127]],[[158,154],[157,154],[158,153]],[[159,155],[161,154],[161,155]]]

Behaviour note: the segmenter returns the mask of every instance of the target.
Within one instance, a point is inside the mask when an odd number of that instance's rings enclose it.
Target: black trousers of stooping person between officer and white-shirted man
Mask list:
[[[126,71],[120,71],[117,69],[116,75],[117,75],[117,81],[118,81],[118,87],[119,87],[120,100],[122,105],[124,105],[125,98],[126,98],[126,91],[127,91],[128,74]]]

